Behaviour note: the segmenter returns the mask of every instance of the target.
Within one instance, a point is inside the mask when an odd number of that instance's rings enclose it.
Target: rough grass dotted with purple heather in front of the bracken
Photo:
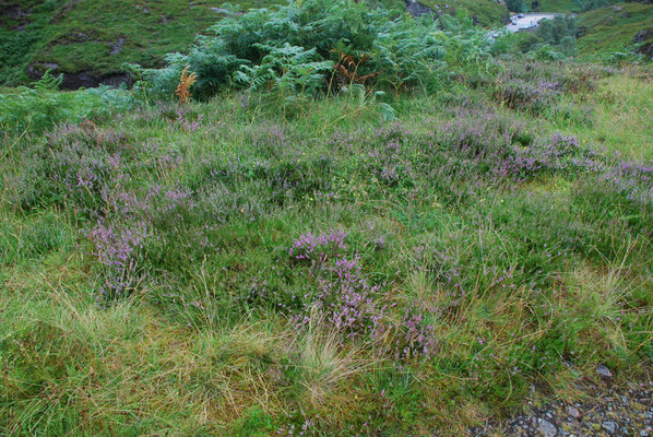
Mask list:
[[[0,434],[460,435],[637,376],[651,73],[489,71],[5,130]]]

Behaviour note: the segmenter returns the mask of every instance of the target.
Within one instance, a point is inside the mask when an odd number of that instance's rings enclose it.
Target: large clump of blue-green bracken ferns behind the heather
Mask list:
[[[227,86],[268,85],[309,94],[330,91],[339,82],[322,80],[322,74],[330,62],[346,56],[359,60],[356,76],[369,78],[366,85],[377,84],[396,95],[438,83],[444,75],[446,57],[460,68],[486,56],[488,45],[468,19],[414,20],[401,11],[346,0],[252,10],[226,16],[210,31],[214,36],[198,37],[188,55],[169,55],[167,68],[143,71],[156,92],[169,95],[186,66],[199,76],[193,91],[200,97]]]

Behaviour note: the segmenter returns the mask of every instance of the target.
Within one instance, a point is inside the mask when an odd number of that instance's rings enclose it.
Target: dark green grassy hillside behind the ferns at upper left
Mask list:
[[[238,8],[265,0],[238,1]],[[3,0],[0,82],[23,83],[26,70],[54,68],[94,76],[120,72],[123,62],[156,67],[164,55],[187,48],[219,20],[207,0]]]

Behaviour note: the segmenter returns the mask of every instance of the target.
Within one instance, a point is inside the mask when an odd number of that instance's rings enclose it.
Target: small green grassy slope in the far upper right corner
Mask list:
[[[580,25],[584,28],[578,42],[581,52],[626,50],[638,32],[653,29],[653,4],[620,3],[597,9],[580,15]]]

